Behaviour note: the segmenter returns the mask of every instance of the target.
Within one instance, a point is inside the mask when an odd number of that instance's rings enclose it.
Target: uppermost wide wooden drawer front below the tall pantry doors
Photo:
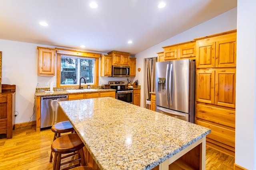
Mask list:
[[[236,114],[234,109],[196,104],[196,117],[235,128]]]

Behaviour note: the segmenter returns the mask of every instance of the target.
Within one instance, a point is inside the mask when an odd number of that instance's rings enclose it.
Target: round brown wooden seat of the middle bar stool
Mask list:
[[[52,142],[52,151],[59,154],[75,152],[84,147],[77,133],[63,135]]]

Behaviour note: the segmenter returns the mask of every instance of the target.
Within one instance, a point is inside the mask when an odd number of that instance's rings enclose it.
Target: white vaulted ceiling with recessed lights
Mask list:
[[[93,9],[92,1],[0,0],[0,39],[134,55],[237,6],[237,0],[165,0],[159,9],[160,0],[94,0]]]

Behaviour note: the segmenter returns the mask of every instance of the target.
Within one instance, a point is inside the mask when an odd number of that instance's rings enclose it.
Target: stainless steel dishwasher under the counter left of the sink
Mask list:
[[[68,120],[58,104],[58,102],[65,100],[68,100],[68,95],[41,97],[41,129]]]

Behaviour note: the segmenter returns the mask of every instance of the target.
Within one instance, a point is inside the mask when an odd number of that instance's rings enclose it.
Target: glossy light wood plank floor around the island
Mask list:
[[[0,170],[51,170],[49,162],[53,133],[36,132],[35,126],[16,129],[13,138],[0,135]],[[233,170],[234,158],[206,147],[206,170]]]

